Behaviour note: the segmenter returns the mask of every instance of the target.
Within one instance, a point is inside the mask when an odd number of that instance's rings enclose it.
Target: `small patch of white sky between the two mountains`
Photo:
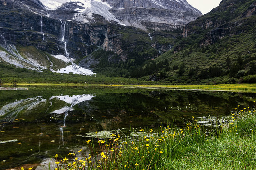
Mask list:
[[[194,8],[201,11],[202,14],[210,12],[213,8],[219,6],[221,0],[187,0]]]

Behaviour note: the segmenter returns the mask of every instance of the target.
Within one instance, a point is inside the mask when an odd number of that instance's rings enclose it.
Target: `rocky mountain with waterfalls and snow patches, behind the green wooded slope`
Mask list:
[[[0,60],[78,74],[105,60],[141,64],[170,50],[177,31],[200,15],[185,0],[0,0]],[[107,54],[95,57],[100,51]]]

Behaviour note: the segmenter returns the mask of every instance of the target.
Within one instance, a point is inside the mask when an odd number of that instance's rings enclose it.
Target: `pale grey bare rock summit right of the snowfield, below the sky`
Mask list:
[[[102,0],[110,12],[127,26],[142,30],[182,29],[202,13],[186,0]]]

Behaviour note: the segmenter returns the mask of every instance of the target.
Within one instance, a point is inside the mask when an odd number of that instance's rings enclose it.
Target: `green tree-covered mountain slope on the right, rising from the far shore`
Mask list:
[[[222,0],[184,26],[171,51],[134,75],[173,84],[255,83],[255,30],[255,0]]]

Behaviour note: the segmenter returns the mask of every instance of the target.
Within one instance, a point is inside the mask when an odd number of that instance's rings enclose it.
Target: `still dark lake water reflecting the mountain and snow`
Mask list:
[[[90,132],[183,126],[192,116],[225,117],[256,93],[110,87],[0,91],[0,169],[86,149]]]

